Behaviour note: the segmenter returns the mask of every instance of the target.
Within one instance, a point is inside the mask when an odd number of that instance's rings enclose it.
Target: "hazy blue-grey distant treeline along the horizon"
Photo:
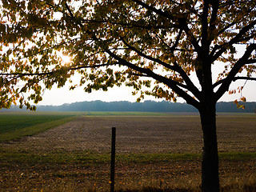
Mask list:
[[[254,113],[256,102],[244,103],[245,109],[238,109],[234,102],[218,102],[217,112]],[[10,110],[17,110],[12,106]],[[37,106],[40,111],[148,111],[148,112],[197,112],[193,106],[180,102],[74,102],[62,106]]]

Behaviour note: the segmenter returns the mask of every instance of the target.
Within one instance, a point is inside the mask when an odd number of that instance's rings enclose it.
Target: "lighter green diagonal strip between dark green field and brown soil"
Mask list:
[[[34,126],[27,126],[22,129],[8,131],[6,133],[0,134],[0,142],[8,142],[11,140],[22,138],[23,136],[32,136],[34,134],[38,134],[45,130],[49,130],[55,126],[60,126],[62,124],[65,124],[66,122],[70,122],[74,118],[76,117],[73,116],[73,117],[61,118],[61,119],[50,121],[50,122],[39,123],[38,125],[34,125]]]

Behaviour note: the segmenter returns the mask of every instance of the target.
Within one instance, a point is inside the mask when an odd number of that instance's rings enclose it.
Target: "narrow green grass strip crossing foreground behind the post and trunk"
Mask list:
[[[33,151],[6,150],[0,148],[1,162],[17,163],[67,163],[84,165],[102,165],[110,162],[110,153],[98,154],[94,151],[67,152],[55,151],[35,154]],[[226,152],[219,154],[220,161],[246,162],[255,161],[256,153],[250,152]],[[126,163],[161,163],[161,162],[201,162],[201,154],[117,154],[116,162]]]

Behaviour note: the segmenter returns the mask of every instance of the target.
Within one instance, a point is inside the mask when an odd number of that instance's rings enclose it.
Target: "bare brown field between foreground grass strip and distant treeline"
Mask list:
[[[219,151],[256,151],[256,115],[218,117]],[[197,116],[84,116],[22,140],[4,143],[21,150],[110,151],[111,127],[117,128],[117,153],[201,153]]]

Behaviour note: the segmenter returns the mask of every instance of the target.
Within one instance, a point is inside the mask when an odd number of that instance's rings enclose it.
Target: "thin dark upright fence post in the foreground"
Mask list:
[[[110,192],[114,192],[115,138],[116,138],[116,128],[112,127],[111,167],[110,167]]]

